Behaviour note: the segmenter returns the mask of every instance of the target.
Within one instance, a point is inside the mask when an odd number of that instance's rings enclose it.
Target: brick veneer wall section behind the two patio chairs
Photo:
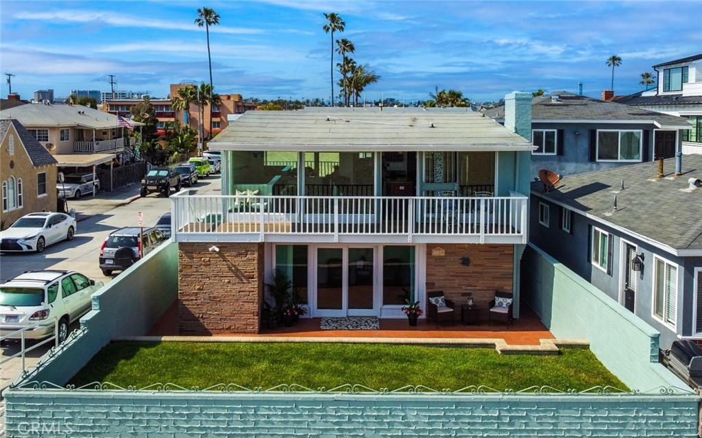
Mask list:
[[[437,246],[445,256],[432,255]],[[468,257],[470,265],[461,265]],[[469,296],[479,307],[495,298],[495,291],[512,292],[514,246],[449,244],[427,245],[427,291],[444,291],[449,300],[465,303]],[[460,312],[453,312],[459,318]]]

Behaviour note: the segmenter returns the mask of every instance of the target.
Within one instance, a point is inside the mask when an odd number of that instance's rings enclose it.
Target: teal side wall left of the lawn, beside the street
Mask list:
[[[178,299],[178,244],[169,241],[119,274],[93,296],[86,328],[60,347],[28,379],[65,385],[95,353],[117,336],[143,336]]]

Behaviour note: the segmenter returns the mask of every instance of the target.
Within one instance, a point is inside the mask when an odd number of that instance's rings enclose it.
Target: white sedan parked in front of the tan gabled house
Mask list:
[[[0,232],[0,252],[37,251],[76,234],[76,219],[65,213],[39,212],[24,215]]]

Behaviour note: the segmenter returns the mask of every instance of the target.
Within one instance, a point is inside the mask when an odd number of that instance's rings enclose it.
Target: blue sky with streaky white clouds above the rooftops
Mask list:
[[[205,30],[194,24],[202,6],[220,15],[210,31],[215,91],[244,98],[329,100],[325,12],[346,22],[334,38],[350,39],[352,57],[380,75],[367,100],[427,100],[435,86],[498,100],[515,90],[576,93],[578,82],[600,96],[613,54],[623,60],[614,89],[629,94],[652,65],[702,53],[697,0],[3,0],[1,70],[15,74],[22,98],[110,91],[108,74],[119,90],[165,98],[168,84],[208,81]]]

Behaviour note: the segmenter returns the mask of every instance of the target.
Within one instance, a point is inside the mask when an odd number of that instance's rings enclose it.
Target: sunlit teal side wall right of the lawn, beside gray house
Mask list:
[[[658,331],[531,244],[522,256],[521,277],[522,300],[551,333],[588,340],[597,359],[632,390],[691,391],[658,363]]]

